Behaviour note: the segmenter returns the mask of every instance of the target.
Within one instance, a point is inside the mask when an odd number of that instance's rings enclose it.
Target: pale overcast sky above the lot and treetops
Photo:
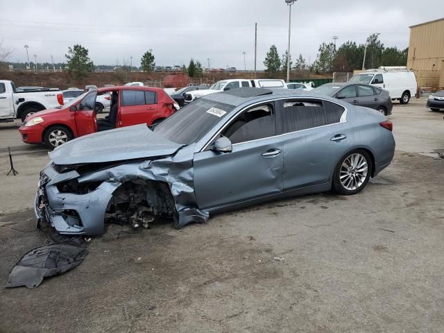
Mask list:
[[[298,0],[292,6],[291,54],[316,59],[318,46],[364,43],[371,33],[386,46],[409,45],[409,26],[441,18],[443,0]],[[435,8],[436,10],[433,10]],[[438,15],[438,16],[437,16]],[[156,65],[263,68],[271,44],[287,49],[289,8],[284,0],[0,0],[0,40],[14,49],[10,61],[65,61],[68,46],[82,44],[96,65],[140,64],[152,49]]]

